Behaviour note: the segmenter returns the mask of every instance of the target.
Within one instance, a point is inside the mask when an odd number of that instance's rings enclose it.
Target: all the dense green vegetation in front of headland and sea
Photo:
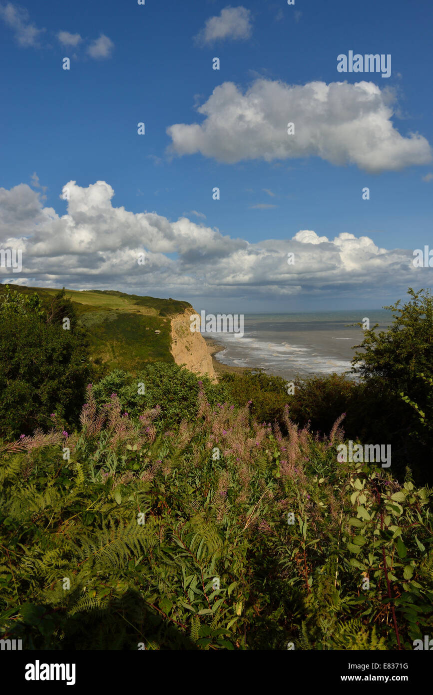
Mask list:
[[[163,361],[98,376],[75,309],[64,292],[0,301],[0,637],[385,650],[430,634],[427,293],[366,332],[360,384],[290,395],[262,372],[214,384]],[[391,443],[391,468],[338,461],[348,439]]]

